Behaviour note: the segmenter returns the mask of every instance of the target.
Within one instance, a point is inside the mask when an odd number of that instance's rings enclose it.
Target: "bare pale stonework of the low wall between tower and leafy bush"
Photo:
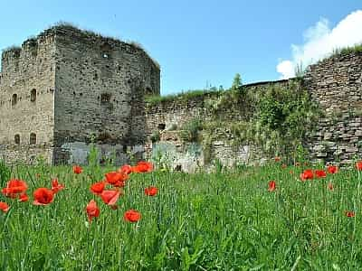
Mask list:
[[[292,79],[295,81],[294,79]],[[289,80],[266,81],[245,85],[246,91],[265,91],[271,85],[285,86]],[[215,160],[225,166],[235,164],[259,164],[265,160],[255,145],[231,145],[233,133],[224,126],[216,127],[212,135],[203,131],[201,137],[212,138],[211,141],[189,143],[182,140],[180,130],[195,118],[203,122],[241,122],[252,117],[254,105],[240,96],[226,101],[217,107],[225,96],[220,92],[206,92],[199,95],[178,96],[148,103],[146,107],[146,127],[150,148],[148,159],[161,159],[161,164],[168,164],[173,169],[195,172],[197,168],[208,169]],[[235,101],[236,100],[236,101]],[[225,101],[223,101],[225,102]],[[176,131],[172,131],[176,129]],[[160,134],[160,141],[150,142],[152,135]],[[164,156],[164,157],[162,157]]]

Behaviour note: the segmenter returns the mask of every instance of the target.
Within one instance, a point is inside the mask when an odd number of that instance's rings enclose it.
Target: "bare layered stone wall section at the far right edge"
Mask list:
[[[362,157],[362,52],[311,65],[305,86],[325,113],[306,143],[310,158],[351,164]]]

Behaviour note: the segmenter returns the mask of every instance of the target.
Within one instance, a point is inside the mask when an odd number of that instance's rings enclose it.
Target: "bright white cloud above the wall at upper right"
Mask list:
[[[294,76],[295,67],[303,67],[328,56],[333,50],[362,42],[362,10],[357,10],[342,19],[333,29],[329,21],[321,18],[303,34],[304,44],[291,44],[291,60],[280,61],[276,69],[281,79]]]

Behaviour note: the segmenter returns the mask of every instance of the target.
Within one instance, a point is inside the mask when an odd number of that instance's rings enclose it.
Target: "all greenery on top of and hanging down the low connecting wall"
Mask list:
[[[240,146],[252,145],[260,150],[261,157],[283,155],[296,159],[297,155],[304,154],[306,134],[312,131],[320,115],[309,92],[302,89],[301,80],[248,88],[236,74],[232,88],[214,91],[214,95],[198,90],[176,96],[152,97],[148,103],[187,102],[190,98],[202,98],[205,115],[191,119],[178,129],[184,142],[203,145],[205,163],[214,158],[215,141],[234,147],[235,154]]]

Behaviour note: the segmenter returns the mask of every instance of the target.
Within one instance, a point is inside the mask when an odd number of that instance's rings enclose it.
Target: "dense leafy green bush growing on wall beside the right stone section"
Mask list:
[[[285,88],[274,85],[251,95],[257,105],[252,117],[254,139],[268,154],[295,154],[319,117],[307,90],[291,82]]]

